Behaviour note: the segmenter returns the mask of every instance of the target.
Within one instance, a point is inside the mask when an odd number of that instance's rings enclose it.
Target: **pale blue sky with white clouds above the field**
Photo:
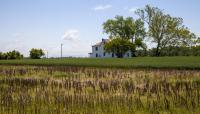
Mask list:
[[[0,0],[0,52],[28,56],[31,48],[42,48],[59,57],[62,43],[63,56],[87,57],[91,45],[107,38],[102,28],[107,19],[138,18],[134,11],[147,4],[183,18],[200,35],[199,0]]]

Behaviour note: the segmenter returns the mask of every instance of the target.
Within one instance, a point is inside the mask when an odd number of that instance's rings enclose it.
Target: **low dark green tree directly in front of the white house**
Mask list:
[[[110,42],[106,43],[104,49],[106,52],[114,53],[118,58],[123,58],[124,54],[127,51],[135,51],[135,45],[129,40],[115,38]]]

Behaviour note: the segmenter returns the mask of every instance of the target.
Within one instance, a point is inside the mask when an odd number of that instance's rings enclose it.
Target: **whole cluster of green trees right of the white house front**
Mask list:
[[[104,47],[106,52],[118,58],[127,51],[131,51],[132,56],[200,55],[200,38],[183,24],[182,18],[172,17],[150,5],[136,10],[135,14],[139,16],[136,20],[116,16],[103,23],[104,33],[110,39]],[[147,49],[145,39],[156,45],[155,48]]]

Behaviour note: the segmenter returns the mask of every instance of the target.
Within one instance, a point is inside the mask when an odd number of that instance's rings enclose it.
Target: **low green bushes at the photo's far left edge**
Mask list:
[[[23,55],[16,50],[7,53],[0,52],[0,60],[5,60],[5,59],[23,59]]]

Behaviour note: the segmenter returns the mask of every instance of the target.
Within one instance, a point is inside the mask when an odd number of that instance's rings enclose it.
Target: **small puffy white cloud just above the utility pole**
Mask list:
[[[78,30],[67,30],[65,34],[62,36],[64,40],[76,40],[79,37]]]

